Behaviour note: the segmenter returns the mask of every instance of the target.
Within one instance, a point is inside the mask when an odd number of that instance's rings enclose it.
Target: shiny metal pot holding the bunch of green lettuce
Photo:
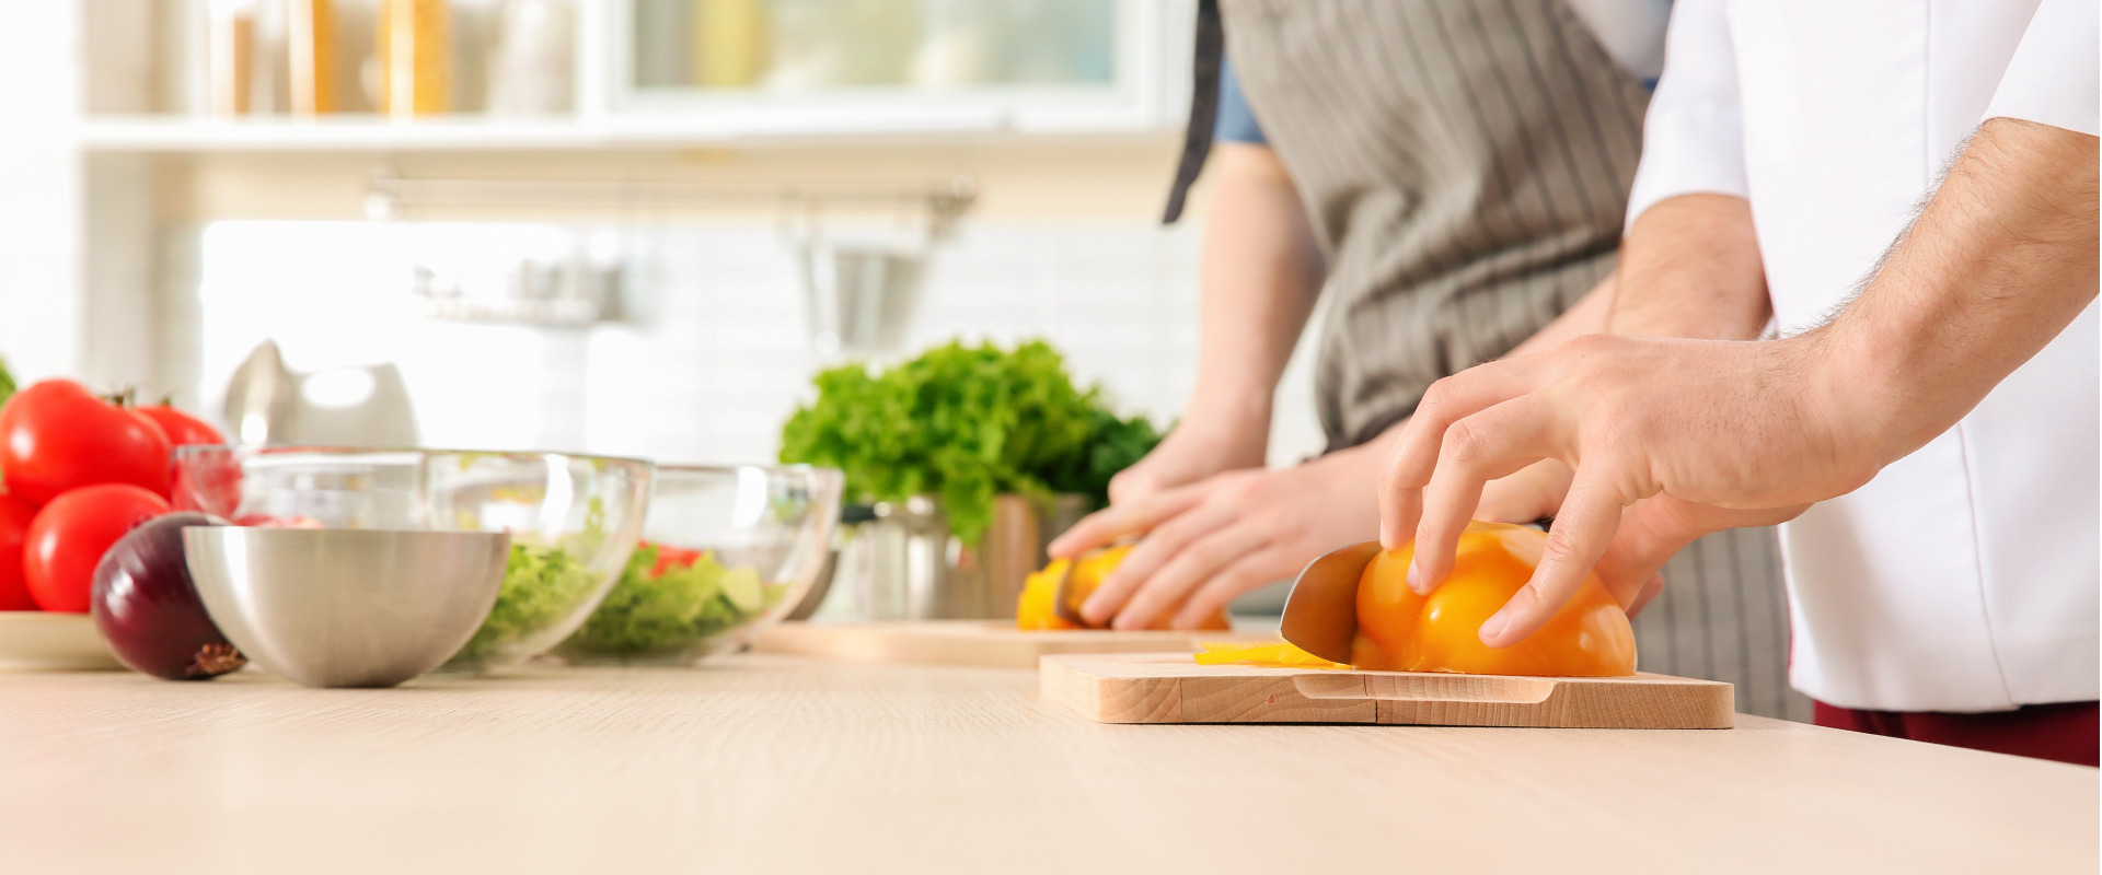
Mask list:
[[[883,501],[847,514],[830,577],[797,613],[816,621],[1011,619],[1022,583],[1049,562],[1045,548],[1093,510],[1085,495],[1001,495],[975,543],[948,531],[933,497]]]

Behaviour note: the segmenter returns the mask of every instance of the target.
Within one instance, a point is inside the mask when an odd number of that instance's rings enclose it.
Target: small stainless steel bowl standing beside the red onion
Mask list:
[[[488,619],[511,535],[479,531],[183,531],[204,611],[233,646],[307,686],[395,686]]]

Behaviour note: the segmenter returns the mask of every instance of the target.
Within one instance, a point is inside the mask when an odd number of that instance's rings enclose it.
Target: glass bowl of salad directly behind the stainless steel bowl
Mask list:
[[[599,606],[641,537],[650,472],[568,453],[179,447],[174,506],[235,525],[511,533],[490,619],[444,665],[494,671],[547,653]]]

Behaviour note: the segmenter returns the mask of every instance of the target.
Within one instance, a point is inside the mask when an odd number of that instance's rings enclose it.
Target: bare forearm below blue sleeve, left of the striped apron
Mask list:
[[[1268,432],[1270,403],[1320,292],[1322,256],[1284,164],[1225,143],[1204,216],[1198,384],[1188,420]]]

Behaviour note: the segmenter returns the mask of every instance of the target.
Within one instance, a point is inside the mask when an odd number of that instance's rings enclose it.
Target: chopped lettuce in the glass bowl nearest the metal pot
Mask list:
[[[725,569],[715,554],[662,575],[652,575],[656,562],[656,543],[635,548],[620,583],[563,642],[563,650],[614,657],[685,650],[744,625],[788,590],[763,585],[755,569]]]

